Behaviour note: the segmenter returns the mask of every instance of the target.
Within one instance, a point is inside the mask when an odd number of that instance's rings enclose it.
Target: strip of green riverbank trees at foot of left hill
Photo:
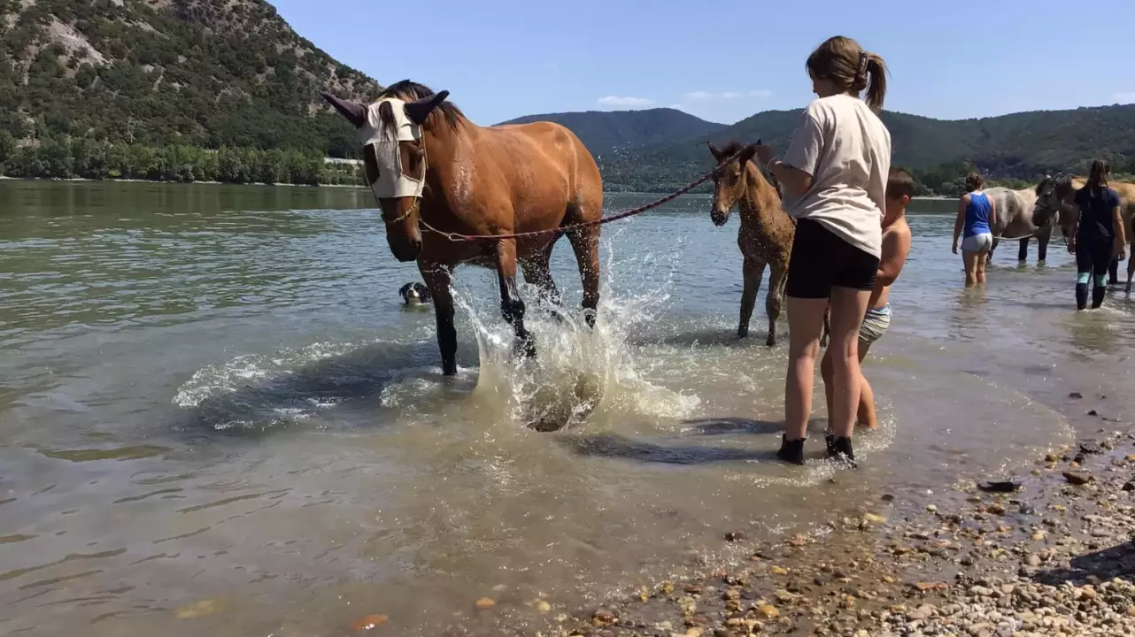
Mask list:
[[[0,130],[0,175],[25,179],[140,179],[224,184],[361,185],[359,168],[289,150],[217,150],[48,138],[20,146]]]

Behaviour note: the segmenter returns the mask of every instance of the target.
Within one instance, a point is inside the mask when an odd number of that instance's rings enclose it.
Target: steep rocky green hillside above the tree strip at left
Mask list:
[[[0,162],[75,141],[358,153],[320,88],[379,85],[263,0],[0,0]]]

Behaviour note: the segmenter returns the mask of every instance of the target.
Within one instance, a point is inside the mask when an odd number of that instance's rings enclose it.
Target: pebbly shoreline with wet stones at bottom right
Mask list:
[[[501,617],[446,635],[1135,635],[1135,432],[1088,414],[1111,426],[1037,458],[1015,492],[967,479],[901,511],[880,494],[815,534],[747,546],[731,569],[602,608],[486,608]],[[746,543],[741,532],[722,541]]]

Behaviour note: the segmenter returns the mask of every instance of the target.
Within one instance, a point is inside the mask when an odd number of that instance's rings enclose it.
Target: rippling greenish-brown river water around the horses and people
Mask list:
[[[648,198],[611,195],[608,212]],[[372,205],[0,182],[0,632],[523,622],[537,598],[556,612],[733,559],[726,530],[822,528],[881,493],[901,508],[1027,472],[1121,426],[1087,402],[1115,421],[1135,405],[1135,306],[1076,313],[1062,246],[1024,267],[1003,247],[987,288],[964,290],[952,202],[911,206],[894,321],[865,367],[883,425],[855,473],[821,460],[819,383],[815,461],[773,461],[785,346],[763,345],[763,291],[753,336],[733,337],[737,221],[715,228],[707,198],[605,227],[599,328],[531,312],[536,363],[507,356],[495,278],[459,271],[448,380]],[[566,241],[553,271],[578,307]],[[526,426],[548,419],[566,426]]]

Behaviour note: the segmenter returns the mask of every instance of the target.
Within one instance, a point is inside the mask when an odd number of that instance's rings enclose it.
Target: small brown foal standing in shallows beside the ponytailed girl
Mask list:
[[[737,336],[749,334],[749,318],[757,301],[760,278],[765,266],[768,273],[768,292],[765,295],[765,313],[768,315],[768,339],[765,345],[776,345],[776,318],[780,317],[784,299],[784,283],[788,282],[788,258],[796,237],[796,222],[781,207],[776,188],[751,161],[754,146],[745,148],[737,142],[717,150],[709,144],[709,152],[720,164],[729,163],[714,175],[713,205],[709,218],[716,226],[729,221],[733,206],[740,209],[741,228],[737,232],[737,245],[745,256],[745,291],[741,294],[741,322]]]

